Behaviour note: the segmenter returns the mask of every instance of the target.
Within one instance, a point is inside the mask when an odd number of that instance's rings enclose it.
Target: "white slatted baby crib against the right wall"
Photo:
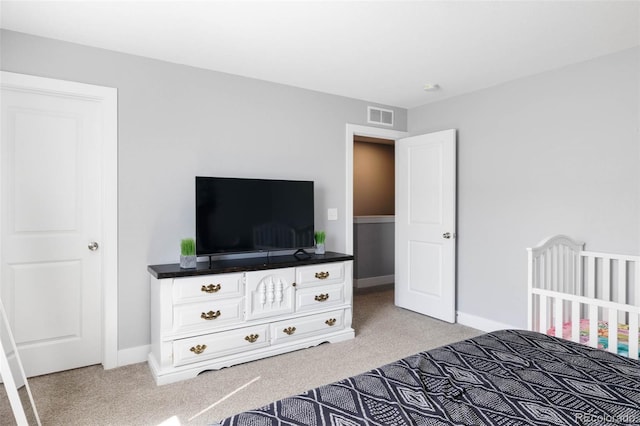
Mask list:
[[[527,251],[529,330],[638,359],[640,256],[584,251],[564,235]]]

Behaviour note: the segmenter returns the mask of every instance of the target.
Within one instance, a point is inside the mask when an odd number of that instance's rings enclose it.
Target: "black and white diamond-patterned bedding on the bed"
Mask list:
[[[536,332],[503,330],[218,425],[640,425],[640,362]]]

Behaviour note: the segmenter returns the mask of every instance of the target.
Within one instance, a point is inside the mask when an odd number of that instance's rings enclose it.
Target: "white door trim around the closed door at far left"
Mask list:
[[[118,89],[0,71],[0,84],[26,92],[54,92],[102,104],[102,365],[118,367]],[[42,88],[42,85],[46,88]],[[1,250],[1,248],[0,248]]]

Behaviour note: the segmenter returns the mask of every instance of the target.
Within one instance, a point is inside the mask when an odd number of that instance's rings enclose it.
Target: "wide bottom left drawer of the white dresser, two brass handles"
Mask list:
[[[206,361],[269,346],[269,325],[205,334],[173,342],[173,365]]]

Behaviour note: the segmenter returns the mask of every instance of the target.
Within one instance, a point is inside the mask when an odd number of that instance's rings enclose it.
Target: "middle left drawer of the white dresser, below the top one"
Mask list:
[[[244,320],[244,298],[212,300],[173,307],[173,330],[215,330]]]

